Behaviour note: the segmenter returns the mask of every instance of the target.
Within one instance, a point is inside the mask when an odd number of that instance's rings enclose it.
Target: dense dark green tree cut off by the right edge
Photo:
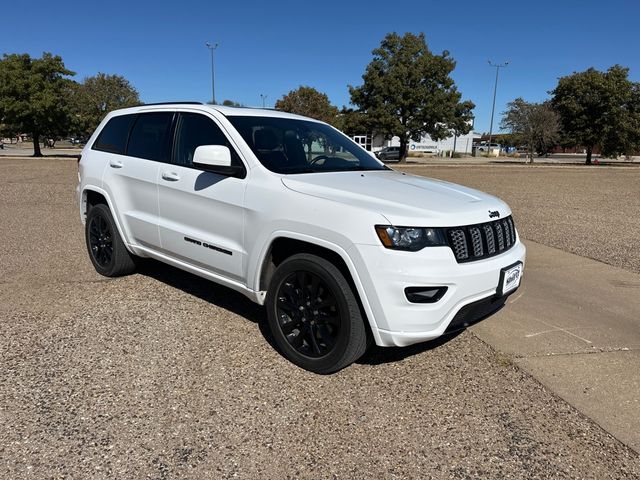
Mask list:
[[[614,65],[606,72],[589,68],[558,80],[552,104],[560,114],[563,144],[583,146],[587,165],[594,147],[603,155],[629,153],[638,146],[640,94],[629,69]]]

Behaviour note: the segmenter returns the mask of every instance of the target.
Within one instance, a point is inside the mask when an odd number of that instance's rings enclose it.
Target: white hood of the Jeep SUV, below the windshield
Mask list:
[[[500,199],[471,188],[393,170],[288,175],[296,192],[384,215],[392,225],[446,227],[488,222],[511,213]]]

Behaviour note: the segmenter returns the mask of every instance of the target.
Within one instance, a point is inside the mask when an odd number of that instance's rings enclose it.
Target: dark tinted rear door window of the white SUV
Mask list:
[[[167,161],[171,112],[141,113],[133,126],[127,155],[147,160]]]

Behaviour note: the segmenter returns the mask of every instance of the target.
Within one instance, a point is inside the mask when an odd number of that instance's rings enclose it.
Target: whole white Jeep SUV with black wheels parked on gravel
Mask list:
[[[110,113],[82,151],[89,256],[136,257],[264,304],[282,353],[330,373],[371,342],[436,338],[500,308],[525,247],[485,193],[386,167],[338,130],[286,113],[157,104]]]

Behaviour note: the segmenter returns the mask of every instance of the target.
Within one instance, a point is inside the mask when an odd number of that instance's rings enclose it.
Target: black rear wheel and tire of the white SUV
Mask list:
[[[135,270],[133,256],[120,238],[107,205],[99,203],[89,209],[85,240],[91,263],[100,275],[120,277]]]

